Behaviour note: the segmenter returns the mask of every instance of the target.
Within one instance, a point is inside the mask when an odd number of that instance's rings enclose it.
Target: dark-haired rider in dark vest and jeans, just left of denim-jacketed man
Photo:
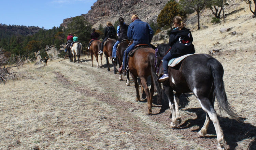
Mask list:
[[[128,26],[129,25],[126,25],[124,23],[124,18],[120,17],[119,19],[119,23],[120,25],[117,26],[117,29],[116,29],[116,33],[117,33],[117,36],[118,36],[118,40],[116,41],[114,47],[113,47],[113,51],[112,51],[112,58],[111,60],[112,61],[115,61],[116,59],[116,49],[117,49],[117,45],[124,39],[128,39],[127,37],[127,29],[128,29]]]

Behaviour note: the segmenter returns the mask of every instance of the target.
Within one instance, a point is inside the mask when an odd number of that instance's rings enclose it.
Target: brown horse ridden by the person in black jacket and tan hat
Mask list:
[[[104,55],[105,55],[105,58],[106,58],[106,63],[108,65],[108,71],[110,71],[109,69],[109,58],[111,59],[112,58],[112,50],[113,50],[113,47],[116,43],[116,40],[115,39],[108,39],[105,44],[104,44],[104,47],[103,47],[103,52],[104,52]],[[113,66],[114,66],[114,74],[116,74],[116,65],[115,65],[116,62],[112,62]]]

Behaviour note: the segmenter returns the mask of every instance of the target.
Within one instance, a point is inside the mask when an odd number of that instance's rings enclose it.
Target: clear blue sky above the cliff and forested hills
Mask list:
[[[97,0],[0,0],[0,23],[59,27],[63,19],[87,14]]]

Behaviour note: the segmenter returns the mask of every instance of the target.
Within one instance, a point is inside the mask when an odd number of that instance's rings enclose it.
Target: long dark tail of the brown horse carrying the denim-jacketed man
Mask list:
[[[154,88],[157,89],[157,104],[161,104],[161,100],[163,99],[163,92],[162,92],[161,84],[159,82],[157,82],[158,76],[156,75],[156,68],[155,68],[155,60],[154,59],[155,59],[154,54],[148,55],[148,60],[150,62],[150,66],[151,66],[151,77],[153,78]]]

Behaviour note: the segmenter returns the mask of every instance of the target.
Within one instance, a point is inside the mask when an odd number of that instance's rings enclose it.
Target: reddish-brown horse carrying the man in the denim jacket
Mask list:
[[[135,46],[136,48],[136,46]],[[154,66],[154,59],[155,59],[155,50],[151,47],[142,47],[137,49],[133,55],[130,56],[128,61],[128,67],[130,74],[134,80],[134,86],[136,88],[136,101],[140,100],[139,94],[139,85],[137,82],[137,77],[141,80],[141,86],[145,90],[145,94],[147,97],[147,114],[152,114],[152,98],[155,92],[157,91],[157,102],[160,103],[162,99],[162,89],[159,82],[157,82],[157,75],[155,72]],[[147,86],[147,77],[151,76],[151,88],[150,91]]]

